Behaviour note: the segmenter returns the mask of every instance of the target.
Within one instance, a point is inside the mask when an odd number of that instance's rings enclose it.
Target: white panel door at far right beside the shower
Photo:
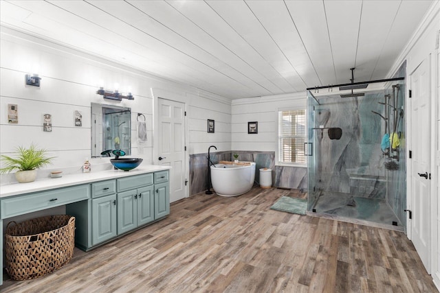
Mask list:
[[[430,91],[428,61],[411,75],[411,240],[430,273]]]

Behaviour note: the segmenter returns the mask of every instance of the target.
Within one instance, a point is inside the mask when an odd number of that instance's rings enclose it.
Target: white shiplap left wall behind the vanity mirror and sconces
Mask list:
[[[0,154],[12,154],[19,145],[36,143],[56,156],[52,165],[39,172],[47,176],[51,169],[80,172],[85,158],[91,156],[91,103],[130,107],[131,154],[144,163],[155,163],[154,104],[157,97],[186,103],[187,155],[204,152],[212,142],[230,150],[230,101],[170,82],[155,75],[123,67],[72,48],[1,27],[0,65]],[[41,86],[25,85],[26,73],[39,73]],[[122,102],[104,100],[96,94],[99,86],[113,90],[119,84],[122,93],[131,91],[135,99]],[[19,124],[8,124],[8,104],[17,104]],[[74,126],[74,110],[83,115],[83,126]],[[52,132],[43,132],[43,114],[52,114]],[[136,140],[136,116],[147,121],[148,141]],[[206,119],[216,121],[216,133],[206,132]],[[188,135],[189,134],[189,135]],[[188,160],[187,160],[188,161]],[[92,170],[109,165],[106,158],[91,159]],[[13,182],[3,175],[2,183]]]

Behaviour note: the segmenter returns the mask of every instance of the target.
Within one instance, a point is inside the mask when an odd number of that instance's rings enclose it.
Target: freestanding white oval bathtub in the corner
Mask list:
[[[250,165],[215,164],[210,168],[212,189],[219,196],[239,196],[250,191],[255,180],[255,163]]]

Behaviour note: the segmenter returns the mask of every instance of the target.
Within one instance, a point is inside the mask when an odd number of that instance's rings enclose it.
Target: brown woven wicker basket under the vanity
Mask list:
[[[10,226],[12,223],[15,225]],[[5,233],[6,272],[14,280],[50,274],[72,259],[74,246],[75,218],[70,215],[9,222]]]

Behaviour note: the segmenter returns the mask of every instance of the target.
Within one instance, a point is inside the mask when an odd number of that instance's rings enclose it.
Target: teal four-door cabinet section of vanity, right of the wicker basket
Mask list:
[[[86,250],[168,215],[168,176],[166,170],[92,183],[92,236]]]

